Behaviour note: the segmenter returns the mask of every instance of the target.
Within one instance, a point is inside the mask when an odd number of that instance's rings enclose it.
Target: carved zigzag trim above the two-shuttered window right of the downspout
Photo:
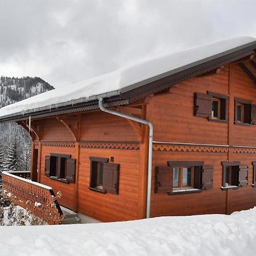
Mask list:
[[[218,146],[184,146],[184,145],[167,145],[154,144],[154,151],[171,151],[171,152],[200,152],[200,153],[228,153],[228,147]]]

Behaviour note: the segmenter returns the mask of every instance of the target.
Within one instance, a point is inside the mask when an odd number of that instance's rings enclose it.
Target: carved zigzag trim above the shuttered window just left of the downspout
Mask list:
[[[101,148],[114,150],[139,150],[139,143],[79,142],[80,148]]]

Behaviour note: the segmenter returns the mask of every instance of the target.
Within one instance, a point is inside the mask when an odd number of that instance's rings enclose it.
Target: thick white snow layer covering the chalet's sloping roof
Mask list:
[[[5,106],[0,109],[0,118],[7,115],[25,114],[45,107],[48,107],[48,109],[57,108],[58,105],[64,102],[68,102],[68,105],[72,105],[73,101],[78,103],[77,101],[80,99],[87,101],[95,100],[93,96],[106,93],[120,94],[125,90],[129,90],[129,86],[137,82],[150,79],[177,68],[185,67],[196,61],[219,55],[252,42],[256,42],[255,38],[242,36],[204,44],[203,46],[193,47],[185,51],[172,53],[155,59],[141,61],[111,73],[77,82],[69,86],[69,88],[54,89],[16,102],[15,104]]]

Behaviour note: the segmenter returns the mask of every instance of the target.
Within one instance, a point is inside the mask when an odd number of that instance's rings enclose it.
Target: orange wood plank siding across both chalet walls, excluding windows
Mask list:
[[[227,98],[225,120],[195,116],[195,93],[208,92]],[[133,102],[137,109],[119,108],[121,112],[141,114],[154,126],[151,217],[229,214],[256,205],[256,188],[252,186],[256,125],[234,123],[234,99],[256,104],[255,94],[254,82],[240,65],[229,64],[219,73],[189,79],[162,94]],[[55,193],[61,191],[61,205],[104,222],[146,217],[148,127],[100,110],[32,122],[40,126],[40,140],[32,147],[38,150],[38,181],[51,186]],[[63,183],[44,174],[46,156],[53,153],[76,159],[75,183]],[[118,194],[89,189],[89,157],[119,164]],[[167,166],[168,161],[213,166],[213,188],[182,195],[155,193],[155,167]],[[221,189],[221,162],[227,161],[249,167],[246,187]]]

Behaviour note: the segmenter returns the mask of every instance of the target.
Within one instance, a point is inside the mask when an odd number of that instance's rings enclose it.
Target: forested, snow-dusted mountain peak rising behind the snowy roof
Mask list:
[[[54,89],[40,77],[5,77],[0,79],[0,108]]]

